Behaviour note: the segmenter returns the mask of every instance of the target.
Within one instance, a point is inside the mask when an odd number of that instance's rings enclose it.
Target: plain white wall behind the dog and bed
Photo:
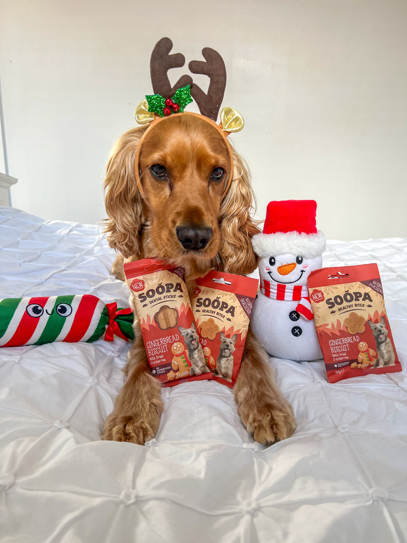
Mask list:
[[[107,155],[168,36],[186,65],[205,46],[225,60],[258,218],[269,200],[314,198],[328,238],[407,236],[406,28],[406,0],[0,0],[12,204],[105,217]]]

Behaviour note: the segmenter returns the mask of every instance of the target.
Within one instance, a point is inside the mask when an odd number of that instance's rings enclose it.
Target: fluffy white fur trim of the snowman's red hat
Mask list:
[[[325,251],[326,239],[321,230],[316,234],[296,231],[259,233],[252,237],[252,245],[260,258],[285,254],[314,258]]]

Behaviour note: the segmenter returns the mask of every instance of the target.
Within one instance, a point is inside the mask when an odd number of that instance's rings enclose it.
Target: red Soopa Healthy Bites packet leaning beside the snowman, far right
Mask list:
[[[308,289],[330,383],[402,370],[377,264],[311,271]]]

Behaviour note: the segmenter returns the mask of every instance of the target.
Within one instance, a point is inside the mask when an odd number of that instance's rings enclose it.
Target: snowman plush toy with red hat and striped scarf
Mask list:
[[[307,285],[310,272],[322,267],[326,246],[316,229],[316,201],[271,201],[252,245],[260,257],[260,292],[250,323],[260,344],[278,358],[322,358]]]

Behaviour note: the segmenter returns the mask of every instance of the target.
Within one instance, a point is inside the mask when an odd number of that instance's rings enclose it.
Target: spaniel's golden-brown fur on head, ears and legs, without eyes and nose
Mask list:
[[[228,172],[226,145],[210,123],[188,113],[169,117],[152,127],[143,140],[138,165],[141,193],[135,155],[145,130],[138,127],[120,137],[107,163],[106,232],[110,246],[119,252],[113,271],[123,279],[123,257],[129,261],[163,258],[185,268],[189,291],[194,279],[211,269],[251,273],[257,266],[251,238],[259,230],[251,218],[254,197],[243,159],[233,150],[234,168]],[[154,165],[166,168],[164,180],[152,173]],[[220,181],[211,178],[215,168],[225,172]],[[224,194],[227,175],[233,178]],[[176,229],[188,225],[212,229],[205,248],[182,246]],[[144,444],[155,436],[163,406],[137,319],[135,337],[126,381],[105,422],[103,439]],[[250,330],[233,392],[243,424],[259,443],[274,443],[294,431],[292,408],[278,390],[266,353]]]

